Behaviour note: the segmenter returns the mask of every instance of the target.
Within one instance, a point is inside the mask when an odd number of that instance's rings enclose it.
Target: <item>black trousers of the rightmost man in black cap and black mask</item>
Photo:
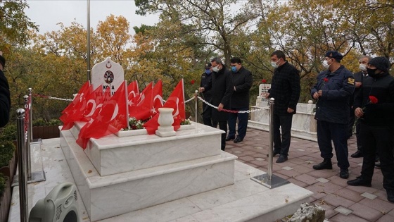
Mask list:
[[[361,177],[371,181],[374,175],[376,150],[381,161],[383,174],[383,187],[386,190],[394,190],[394,129],[378,128],[361,123],[360,137],[362,142]]]

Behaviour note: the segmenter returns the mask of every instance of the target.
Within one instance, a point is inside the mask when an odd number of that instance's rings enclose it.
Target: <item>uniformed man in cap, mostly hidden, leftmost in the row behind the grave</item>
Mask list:
[[[203,73],[203,75],[201,75],[201,82],[200,82],[200,87],[203,87],[204,85],[207,85],[208,82],[211,80],[212,78],[212,64],[211,63],[205,63],[205,72]],[[203,97],[205,101],[208,101],[209,103],[212,103],[211,99],[212,99],[212,94],[210,92],[210,90],[205,90],[203,92]],[[201,115],[203,116],[203,121],[205,125],[209,125],[212,126],[212,111],[211,111],[211,107],[208,106],[207,104],[203,103],[203,113],[201,113]]]

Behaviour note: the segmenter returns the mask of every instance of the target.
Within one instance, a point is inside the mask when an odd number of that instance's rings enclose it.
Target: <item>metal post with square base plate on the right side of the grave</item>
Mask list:
[[[280,187],[281,185],[286,185],[290,182],[285,180],[284,178],[280,178],[277,175],[272,174],[272,162],[273,162],[273,151],[274,151],[274,104],[275,99],[269,99],[269,151],[268,151],[268,173],[257,175],[253,178],[250,178],[257,183],[265,185],[269,188]]]

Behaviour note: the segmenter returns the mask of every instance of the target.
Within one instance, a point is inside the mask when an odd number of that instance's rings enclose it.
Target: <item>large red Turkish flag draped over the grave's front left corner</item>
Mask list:
[[[77,144],[82,149],[86,149],[90,138],[98,139],[127,127],[125,90],[125,82],[123,82],[113,97],[104,102],[103,108],[96,118],[81,128]]]

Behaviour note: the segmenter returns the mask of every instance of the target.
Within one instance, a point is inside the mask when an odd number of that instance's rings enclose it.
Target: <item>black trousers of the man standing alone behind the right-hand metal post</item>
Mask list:
[[[272,127],[274,150],[280,151],[280,154],[285,156],[288,156],[288,149],[290,148],[291,121],[293,121],[293,115],[279,116],[274,114],[274,125]]]

